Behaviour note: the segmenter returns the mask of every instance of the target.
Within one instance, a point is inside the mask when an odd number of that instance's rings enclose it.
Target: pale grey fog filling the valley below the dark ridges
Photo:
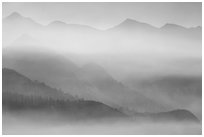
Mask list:
[[[28,117],[27,117],[28,118]],[[54,119],[54,118],[53,118]],[[165,134],[165,135],[200,135],[202,134],[201,124],[197,123],[152,123],[132,122],[126,120],[106,121],[81,121],[60,123],[60,121],[32,121],[23,117],[15,117],[3,114],[3,134],[75,134],[75,135],[143,135],[143,134]]]

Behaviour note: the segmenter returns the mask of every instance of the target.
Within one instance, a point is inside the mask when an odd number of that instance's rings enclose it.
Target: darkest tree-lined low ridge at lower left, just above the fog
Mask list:
[[[56,100],[11,92],[3,92],[2,95],[3,113],[11,112],[18,114],[19,112],[25,112],[26,114],[26,112],[33,111],[39,117],[42,117],[43,114],[48,115],[48,117],[58,115],[59,120],[65,119],[65,121],[127,117],[117,109],[96,101]]]

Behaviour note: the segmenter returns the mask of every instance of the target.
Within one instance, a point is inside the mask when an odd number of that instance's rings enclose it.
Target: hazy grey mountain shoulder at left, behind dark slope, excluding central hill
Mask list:
[[[106,100],[97,88],[77,77],[80,68],[63,56],[19,51],[4,53],[3,67],[14,68],[31,79],[44,81],[50,86],[84,99]]]

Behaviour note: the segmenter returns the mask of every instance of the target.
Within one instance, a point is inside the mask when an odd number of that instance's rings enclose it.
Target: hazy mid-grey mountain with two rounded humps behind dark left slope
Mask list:
[[[8,54],[3,56],[4,67],[14,68],[31,79],[44,81],[86,100],[98,100],[117,108],[130,107],[140,112],[166,111],[170,107],[130,90],[99,65],[79,68],[68,59],[54,55],[27,53],[12,54],[15,58],[9,58]]]

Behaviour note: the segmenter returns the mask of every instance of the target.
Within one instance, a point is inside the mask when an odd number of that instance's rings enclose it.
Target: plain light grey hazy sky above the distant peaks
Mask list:
[[[42,24],[61,20],[100,29],[126,18],[157,27],[165,23],[186,27],[202,25],[201,3],[3,3],[3,17],[14,11]]]

